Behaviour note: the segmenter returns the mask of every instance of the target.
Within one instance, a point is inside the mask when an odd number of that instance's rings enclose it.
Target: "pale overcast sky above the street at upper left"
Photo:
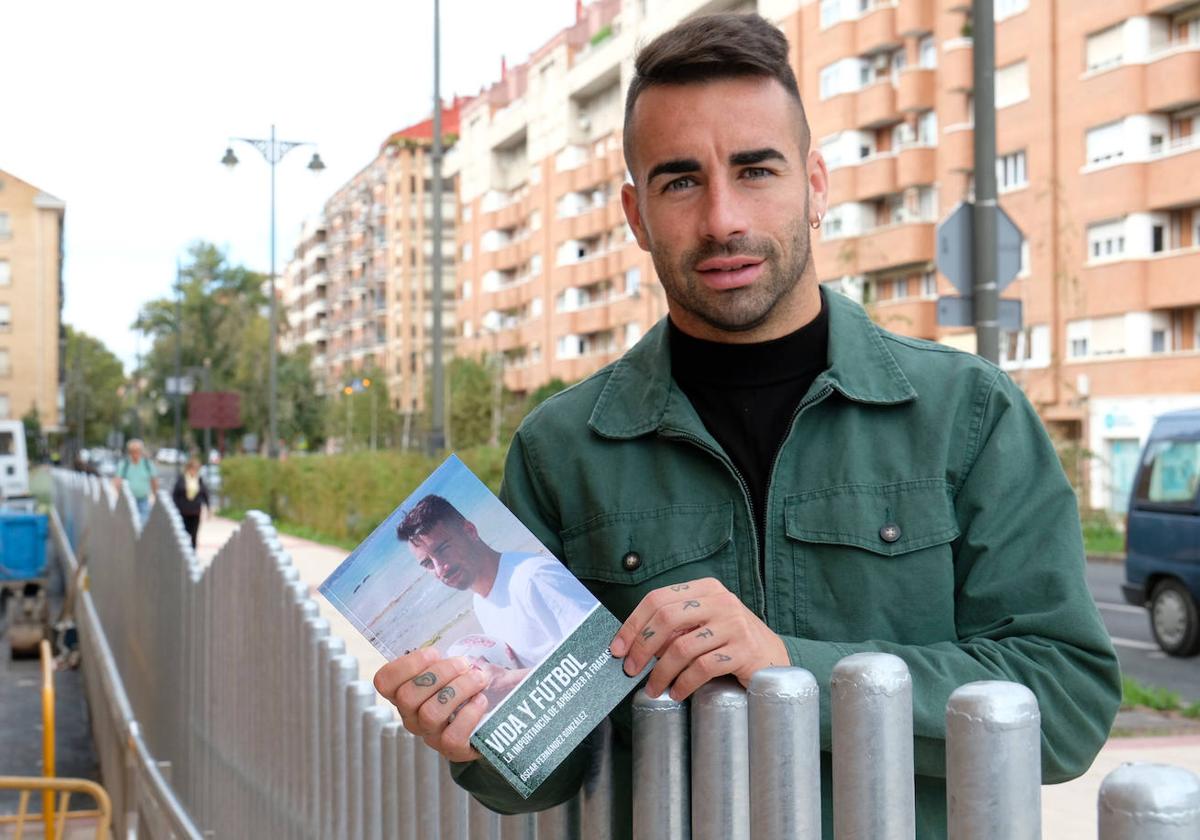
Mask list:
[[[265,272],[270,168],[229,137],[313,140],[276,168],[277,271],[300,223],[431,113],[433,0],[0,0],[0,169],[66,202],[67,324],[132,366],[139,306],[208,240]],[[474,94],[575,0],[442,0],[442,92]],[[142,342],[145,343],[144,341]],[[140,352],[146,349],[140,347]]]

